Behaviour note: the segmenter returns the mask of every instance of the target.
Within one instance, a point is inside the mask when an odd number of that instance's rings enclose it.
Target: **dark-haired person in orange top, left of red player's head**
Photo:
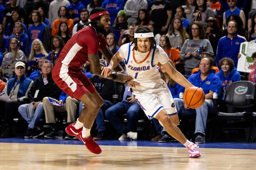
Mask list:
[[[52,36],[56,36],[59,31],[59,25],[62,21],[65,21],[68,24],[68,31],[69,34],[72,35],[72,31],[74,28],[74,22],[72,19],[70,19],[70,14],[67,10],[67,7],[61,6],[59,11],[58,11],[59,19],[56,19],[52,23]]]

